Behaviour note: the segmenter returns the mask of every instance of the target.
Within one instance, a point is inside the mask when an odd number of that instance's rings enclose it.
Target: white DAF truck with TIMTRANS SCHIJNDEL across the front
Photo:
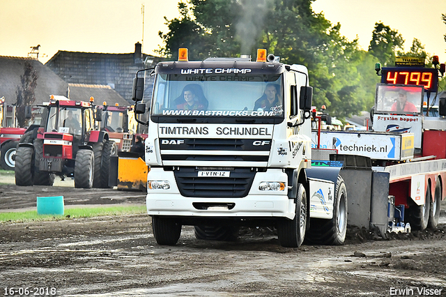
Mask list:
[[[146,139],[147,211],[160,245],[182,225],[200,239],[230,240],[240,226],[277,228],[284,247],[307,238],[344,243],[347,191],[341,162],[312,162],[307,68],[259,50],[250,58],[163,61],[155,75]],[[137,113],[146,106],[137,104]]]

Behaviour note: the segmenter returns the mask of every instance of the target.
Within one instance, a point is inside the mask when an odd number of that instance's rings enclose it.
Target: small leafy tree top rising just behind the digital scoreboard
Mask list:
[[[403,36],[397,30],[379,22],[375,24],[371,34],[369,52],[378,58],[383,66],[391,66],[395,62],[395,53],[403,50],[403,44]]]

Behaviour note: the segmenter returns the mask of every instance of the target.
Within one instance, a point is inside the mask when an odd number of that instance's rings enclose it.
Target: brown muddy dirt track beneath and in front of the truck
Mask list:
[[[0,185],[0,208],[35,208],[43,193],[63,195],[67,206],[145,201],[141,192]],[[446,296],[441,221],[388,241],[350,229],[346,245],[297,249],[280,247],[274,230],[243,229],[227,243],[199,241],[192,227],[163,247],[148,215],[8,222],[0,224],[0,283],[2,294],[54,287],[57,296]]]

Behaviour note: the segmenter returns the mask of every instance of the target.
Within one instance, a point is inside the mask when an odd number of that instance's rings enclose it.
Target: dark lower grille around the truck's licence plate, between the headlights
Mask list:
[[[230,170],[229,177],[198,176],[200,169],[180,167],[174,171],[176,184],[185,197],[233,197],[248,195],[256,172],[250,168]],[[227,170],[223,170],[227,171]]]

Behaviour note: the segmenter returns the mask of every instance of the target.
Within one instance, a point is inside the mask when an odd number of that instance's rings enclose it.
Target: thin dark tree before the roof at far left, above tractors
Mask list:
[[[37,70],[33,68],[29,61],[24,63],[24,74],[20,75],[21,86],[17,86],[17,101],[15,103],[15,116],[17,118],[18,125],[24,127],[27,125],[27,119],[25,118],[26,108],[30,108],[33,102],[36,100],[34,91],[37,86]]]

